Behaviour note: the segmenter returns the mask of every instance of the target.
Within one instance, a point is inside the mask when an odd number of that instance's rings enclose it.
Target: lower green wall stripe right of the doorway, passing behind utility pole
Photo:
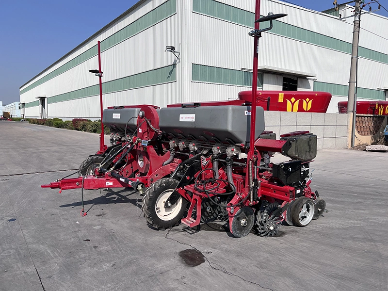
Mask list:
[[[348,96],[349,86],[324,82],[314,82],[314,91],[329,92],[335,96]],[[357,98],[385,100],[384,91],[357,88]]]

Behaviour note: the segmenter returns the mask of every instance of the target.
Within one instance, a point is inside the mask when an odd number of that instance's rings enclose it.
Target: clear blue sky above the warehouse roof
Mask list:
[[[18,101],[21,85],[137,1],[0,0],[0,101]],[[290,2],[317,11],[333,7],[333,0]],[[380,3],[388,9],[388,0]]]

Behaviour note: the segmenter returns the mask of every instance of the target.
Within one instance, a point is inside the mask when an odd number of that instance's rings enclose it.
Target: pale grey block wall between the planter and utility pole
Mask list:
[[[265,129],[280,134],[308,130],[317,135],[317,149],[347,147],[347,114],[264,111]]]

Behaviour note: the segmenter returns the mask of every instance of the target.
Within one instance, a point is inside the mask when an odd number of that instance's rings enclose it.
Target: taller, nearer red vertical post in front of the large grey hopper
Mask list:
[[[260,0],[256,0],[255,21],[260,18]],[[255,30],[259,29],[259,22],[255,22]],[[254,155],[255,131],[256,131],[256,93],[258,88],[258,57],[259,37],[255,36],[253,48],[253,79],[252,79],[252,108],[251,108],[251,132],[249,139],[249,158]]]

